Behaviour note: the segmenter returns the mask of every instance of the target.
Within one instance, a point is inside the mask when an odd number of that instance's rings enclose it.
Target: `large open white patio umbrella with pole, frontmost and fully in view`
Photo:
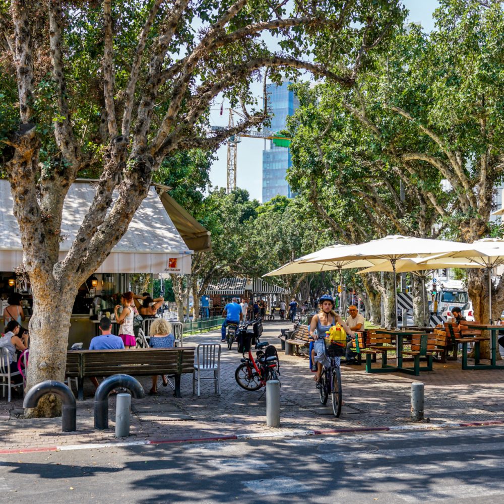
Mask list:
[[[415,238],[412,236],[391,235],[377,240],[371,240],[360,245],[349,245],[345,250],[331,250],[331,247],[319,250],[306,256],[304,261],[316,264],[335,264],[338,261],[366,259],[389,261],[394,273],[395,322],[397,327],[397,279],[396,264],[401,259],[419,259],[422,256],[447,253],[461,250],[463,243],[456,241]]]

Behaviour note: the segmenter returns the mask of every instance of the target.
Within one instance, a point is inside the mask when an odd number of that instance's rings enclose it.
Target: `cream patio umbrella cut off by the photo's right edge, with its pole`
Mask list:
[[[473,268],[486,268],[488,273],[488,298],[490,307],[490,323],[492,322],[492,269],[504,264],[504,240],[498,238],[483,238],[473,243],[460,243],[458,251],[444,254],[434,254],[423,258],[419,264],[437,268],[438,264],[451,264],[450,268],[468,268],[464,264],[472,264]],[[442,268],[442,266],[439,266]]]

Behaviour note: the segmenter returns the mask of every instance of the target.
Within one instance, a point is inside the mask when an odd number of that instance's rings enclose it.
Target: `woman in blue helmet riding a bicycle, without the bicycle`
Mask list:
[[[324,336],[332,326],[339,324],[348,335],[352,335],[345,321],[334,311],[334,299],[329,294],[324,294],[319,299],[321,311],[313,316],[310,323],[309,335],[313,338],[313,350],[311,361],[317,363],[317,374],[314,380],[318,382],[324,367],[329,367],[331,361],[326,353]],[[317,332],[315,332],[317,330]],[[336,363],[340,364],[340,357],[336,357]]]

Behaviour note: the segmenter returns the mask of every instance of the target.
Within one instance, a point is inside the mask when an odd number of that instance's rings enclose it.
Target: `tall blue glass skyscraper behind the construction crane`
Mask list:
[[[270,130],[279,132],[286,126],[288,115],[292,115],[299,106],[299,101],[293,91],[289,91],[290,82],[281,86],[268,84],[268,105],[273,112]],[[291,197],[290,187],[285,180],[287,168],[292,165],[290,149],[276,147],[270,140],[270,148],[263,150],[263,203],[270,201],[276,195]]]

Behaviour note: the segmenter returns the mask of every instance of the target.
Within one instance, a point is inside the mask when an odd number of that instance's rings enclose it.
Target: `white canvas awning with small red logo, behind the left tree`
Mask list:
[[[78,181],[69,189],[63,207],[59,246],[63,259],[95,195],[93,183]],[[114,192],[113,200],[117,198]],[[23,260],[19,226],[13,213],[8,180],[0,180],[0,271],[13,271]],[[190,273],[190,250],[166,213],[154,187],[135,213],[128,230],[97,273]]]

